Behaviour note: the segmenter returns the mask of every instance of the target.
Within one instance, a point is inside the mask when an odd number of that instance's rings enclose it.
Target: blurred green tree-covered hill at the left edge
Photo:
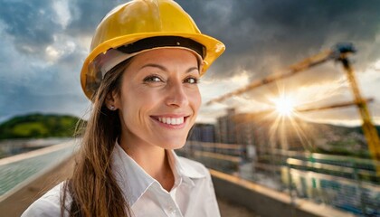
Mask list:
[[[38,113],[18,116],[0,125],[0,139],[72,137],[79,120],[68,115]]]

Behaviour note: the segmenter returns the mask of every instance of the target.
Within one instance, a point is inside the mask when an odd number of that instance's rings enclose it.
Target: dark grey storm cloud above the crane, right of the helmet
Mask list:
[[[226,44],[226,52],[212,68],[213,77],[229,77],[241,70],[262,77],[336,42],[356,43],[360,68],[380,54],[371,47],[380,32],[380,1],[178,2],[204,33]]]

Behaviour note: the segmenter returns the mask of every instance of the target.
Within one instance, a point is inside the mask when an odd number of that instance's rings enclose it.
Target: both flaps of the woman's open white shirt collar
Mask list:
[[[186,161],[187,159],[176,156],[173,150],[167,150],[166,153],[168,154],[169,164],[172,167],[175,178],[179,179],[179,182],[184,181],[194,186],[195,183],[192,179],[205,177],[205,175],[196,171]],[[129,206],[136,203],[152,184],[157,183],[157,180],[148,175],[132,157],[128,156],[118,143],[115,144],[112,152],[111,164],[113,174]]]

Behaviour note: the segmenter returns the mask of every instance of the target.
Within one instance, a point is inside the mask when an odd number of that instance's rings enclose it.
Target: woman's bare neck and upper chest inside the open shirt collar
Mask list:
[[[131,144],[121,137],[120,146],[140,165],[148,175],[152,176],[169,192],[174,185],[174,175],[169,165],[166,150],[159,146]]]

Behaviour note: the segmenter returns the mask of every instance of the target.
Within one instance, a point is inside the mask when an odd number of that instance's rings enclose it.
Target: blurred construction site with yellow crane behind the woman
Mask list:
[[[282,101],[278,110],[253,113],[229,108],[214,125],[196,124],[185,147],[176,152],[210,169],[223,216],[380,216],[380,144],[367,106],[374,99],[366,99],[359,90],[349,59],[355,52],[351,43],[337,44],[282,73],[253,80],[207,102],[207,106],[223,103],[328,61],[342,66],[339,72],[346,74],[352,90],[351,101],[316,108],[292,107]],[[361,128],[350,131],[298,116],[346,107],[356,107]],[[326,146],[343,138],[356,139],[353,148],[365,151],[339,153]],[[48,186],[67,177],[70,169],[59,172],[56,168],[72,166],[76,143],[66,141],[1,159],[1,212],[21,214]]]

